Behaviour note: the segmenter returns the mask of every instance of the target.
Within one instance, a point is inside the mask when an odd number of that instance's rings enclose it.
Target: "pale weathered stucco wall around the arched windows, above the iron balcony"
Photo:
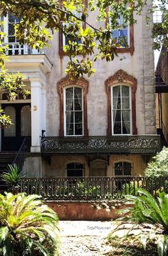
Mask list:
[[[147,7],[148,9],[148,7]],[[136,117],[138,134],[155,134],[155,103],[154,103],[154,56],[150,27],[146,26],[146,11],[143,16],[137,16],[134,26],[135,51],[119,54],[114,61],[97,61],[96,74],[89,79],[88,92],[88,131],[89,135],[107,134],[107,97],[105,80],[122,69],[137,79]],[[94,16],[90,18],[94,24]],[[59,131],[59,97],[57,82],[65,77],[67,56],[60,58],[58,33],[54,34],[51,49],[47,51],[53,63],[51,74],[48,74],[46,84],[46,136],[58,136]],[[79,58],[81,58],[79,56]],[[85,77],[87,79],[87,77]]]

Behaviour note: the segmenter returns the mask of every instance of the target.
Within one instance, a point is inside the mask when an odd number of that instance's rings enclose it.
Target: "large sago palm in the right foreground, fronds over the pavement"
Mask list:
[[[137,193],[137,197],[131,195],[125,197],[133,207],[130,207],[129,216],[122,218],[126,222],[117,220],[117,227],[110,236],[116,235],[115,232],[118,230],[123,230],[123,237],[134,235],[141,240],[144,248],[147,242],[154,242],[157,244],[159,256],[166,256],[168,253],[168,194],[158,192],[155,198],[145,189],[137,189]]]

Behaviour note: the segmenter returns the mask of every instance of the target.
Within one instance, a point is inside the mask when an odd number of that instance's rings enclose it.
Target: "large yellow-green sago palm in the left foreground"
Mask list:
[[[0,255],[54,256],[58,217],[38,195],[0,195]]]

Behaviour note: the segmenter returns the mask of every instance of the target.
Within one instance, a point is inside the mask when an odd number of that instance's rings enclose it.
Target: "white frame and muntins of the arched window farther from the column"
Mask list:
[[[114,122],[113,122],[113,88],[114,87],[118,87],[118,86],[120,86],[120,95],[122,95],[121,94],[121,92],[122,92],[122,86],[126,86],[126,87],[129,87],[129,94],[130,94],[130,133],[129,134],[123,134],[123,133],[121,133],[121,134],[115,134],[114,133]],[[112,136],[122,136],[122,135],[131,135],[132,134],[132,99],[131,99],[131,97],[132,97],[132,94],[131,94],[131,87],[130,87],[130,85],[128,85],[128,84],[115,84],[115,85],[113,85],[113,86],[111,86],[110,87],[110,89],[111,89],[111,123],[112,123]],[[124,110],[124,109],[122,109],[122,101],[121,101],[121,112],[122,112],[122,110]],[[122,118],[121,118],[121,127],[122,127]]]

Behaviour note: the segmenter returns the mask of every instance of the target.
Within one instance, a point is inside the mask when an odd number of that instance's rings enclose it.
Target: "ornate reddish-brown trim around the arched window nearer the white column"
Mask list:
[[[88,86],[89,83],[86,79],[81,78],[77,81],[73,82],[73,80],[65,77],[61,79],[60,82],[57,84],[58,94],[60,97],[60,129],[59,129],[59,136],[64,136],[64,113],[63,113],[63,89],[69,86],[78,86],[83,88],[83,127],[84,136],[88,136],[88,107],[87,107],[87,94],[88,94]]]

